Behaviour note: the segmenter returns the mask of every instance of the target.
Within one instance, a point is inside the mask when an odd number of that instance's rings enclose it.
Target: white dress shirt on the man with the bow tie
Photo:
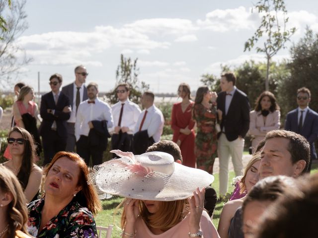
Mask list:
[[[91,120],[107,120],[107,128],[113,126],[110,106],[98,98],[95,99],[95,103],[88,103],[88,101],[90,100],[85,100],[79,104],[75,122],[75,136],[77,141],[80,135],[88,136],[88,122]]]

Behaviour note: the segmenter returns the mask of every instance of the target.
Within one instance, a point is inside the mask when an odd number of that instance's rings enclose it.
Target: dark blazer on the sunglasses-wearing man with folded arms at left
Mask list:
[[[53,121],[56,121],[57,132],[60,137],[67,137],[66,121],[70,119],[71,113],[62,112],[64,107],[70,106],[70,101],[63,92],[60,93],[57,105],[55,105],[53,93],[44,94],[41,99],[40,115],[42,123],[39,131],[40,135],[45,135],[51,130]],[[47,112],[47,109],[55,110],[54,115]]]

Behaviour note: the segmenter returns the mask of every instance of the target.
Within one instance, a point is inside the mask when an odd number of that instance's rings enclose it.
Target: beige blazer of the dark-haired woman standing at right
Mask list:
[[[248,133],[252,138],[252,153],[255,152],[258,143],[264,139],[266,133],[280,127],[280,111],[269,113],[264,121],[261,112],[251,111],[249,113]]]

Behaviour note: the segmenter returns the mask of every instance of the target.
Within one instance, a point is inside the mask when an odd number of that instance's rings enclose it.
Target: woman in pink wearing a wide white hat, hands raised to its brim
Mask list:
[[[213,182],[212,175],[164,152],[111,152],[120,158],[98,166],[91,179],[100,190],[125,197],[123,238],[219,238],[203,209],[202,187]]]

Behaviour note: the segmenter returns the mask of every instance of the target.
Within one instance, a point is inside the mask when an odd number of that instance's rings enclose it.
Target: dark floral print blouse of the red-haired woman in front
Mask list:
[[[42,238],[97,238],[94,217],[78,202],[70,202],[39,232],[44,198],[29,203],[28,232]]]

